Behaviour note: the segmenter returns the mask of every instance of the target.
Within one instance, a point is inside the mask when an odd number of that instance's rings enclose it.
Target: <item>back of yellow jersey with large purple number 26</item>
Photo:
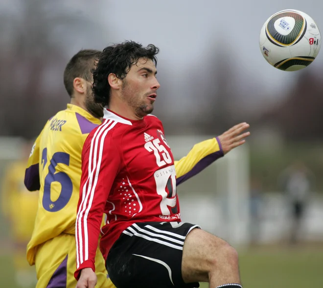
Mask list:
[[[39,189],[35,226],[27,245],[30,265],[35,263],[38,245],[62,232],[75,234],[82,148],[100,123],[83,108],[68,104],[47,121],[33,145],[24,179],[28,190]]]

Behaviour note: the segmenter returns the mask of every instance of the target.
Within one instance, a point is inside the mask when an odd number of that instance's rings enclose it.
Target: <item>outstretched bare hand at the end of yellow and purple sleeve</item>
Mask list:
[[[240,123],[218,136],[224,154],[227,154],[233,148],[238,147],[246,142],[245,138],[250,135],[250,132],[244,131],[248,128],[248,123]]]

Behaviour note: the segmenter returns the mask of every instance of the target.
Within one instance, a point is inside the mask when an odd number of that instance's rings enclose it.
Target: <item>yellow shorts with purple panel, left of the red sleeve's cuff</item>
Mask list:
[[[61,234],[38,248],[35,258],[37,288],[75,288],[75,236]]]

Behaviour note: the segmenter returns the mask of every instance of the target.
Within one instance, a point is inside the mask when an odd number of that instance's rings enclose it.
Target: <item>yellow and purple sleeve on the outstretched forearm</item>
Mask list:
[[[175,161],[176,185],[200,173],[223,155],[218,137],[195,144],[185,157]]]

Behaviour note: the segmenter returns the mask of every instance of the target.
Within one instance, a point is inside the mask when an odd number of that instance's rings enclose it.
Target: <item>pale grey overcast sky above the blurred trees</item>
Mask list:
[[[2,8],[14,13],[19,13],[18,3],[19,0],[1,1]],[[323,31],[321,0],[65,0],[56,3],[56,7],[84,15],[100,27],[84,34],[78,31],[80,36],[66,48],[70,56],[80,47],[101,49],[123,40],[145,45],[154,43],[161,49],[159,73],[176,79],[173,91],[179,99],[187,97],[191,89],[187,85],[187,71],[203,75],[209,68],[209,57],[215,54],[227,59],[237,76],[237,86],[256,92],[254,101],[275,102],[275,97],[281,97],[276,92],[293,84],[299,72],[280,71],[263,59],[258,44],[263,23],[280,10],[297,9],[309,14]],[[221,48],[227,51],[226,55],[219,55]],[[317,70],[322,65],[321,51],[306,69]]]

